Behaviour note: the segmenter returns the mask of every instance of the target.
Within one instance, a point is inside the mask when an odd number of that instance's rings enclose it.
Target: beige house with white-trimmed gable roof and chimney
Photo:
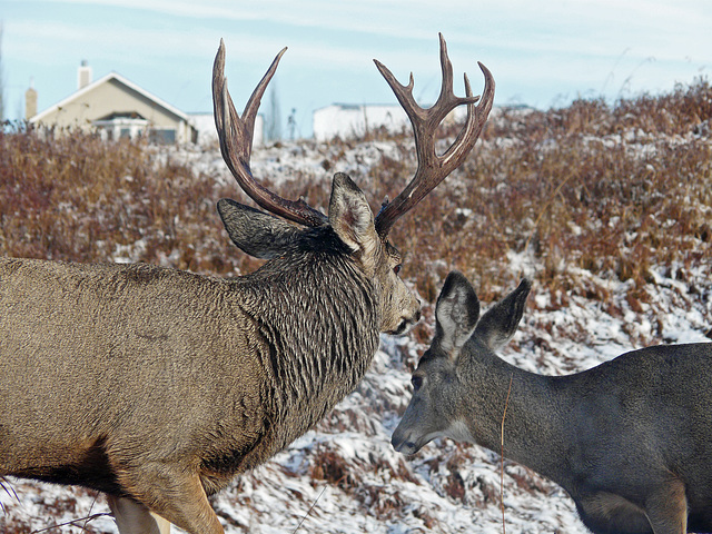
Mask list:
[[[151,142],[185,144],[198,140],[189,116],[117,72],[91,81],[91,68],[82,61],[77,91],[32,115],[30,123],[98,129],[106,139],[148,136]]]

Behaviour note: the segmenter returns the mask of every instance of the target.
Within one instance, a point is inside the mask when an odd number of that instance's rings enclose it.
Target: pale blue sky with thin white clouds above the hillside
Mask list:
[[[710,0],[0,0],[6,117],[22,118],[33,85],[43,110],[116,71],[186,112],[211,110],[215,53],[225,40],[238,110],[288,47],[268,89],[297,134],[332,103],[396,103],[373,59],[432,103],[439,92],[438,32],[455,92],[463,72],[481,92],[477,61],[496,81],[495,106],[561,107],[669,91],[710,78]],[[263,109],[267,107],[263,100]]]

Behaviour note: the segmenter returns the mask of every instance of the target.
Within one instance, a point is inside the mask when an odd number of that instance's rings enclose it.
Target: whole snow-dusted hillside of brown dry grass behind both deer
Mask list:
[[[647,345],[710,342],[711,129],[704,80],[614,106],[496,110],[466,164],[392,231],[424,319],[405,337],[383,336],[353,395],[214,498],[226,532],[497,533],[504,508],[508,532],[584,533],[562,490],[501,464],[496,453],[447,439],[412,458],[394,452],[409,373],[453,268],[485,305],[522,276],[533,280],[520,332],[503,353],[530,370],[567,374]],[[377,209],[414,167],[411,138],[378,131],[266,147],[253,158],[256,177],[323,210],[335,171],[348,172]],[[234,276],[259,263],[229,244],[215,211],[225,196],[245,201],[217,147],[0,134],[7,256],[140,260]],[[58,524],[43,532],[116,532],[101,515],[102,497],[85,490],[8,479],[0,503],[3,533]]]

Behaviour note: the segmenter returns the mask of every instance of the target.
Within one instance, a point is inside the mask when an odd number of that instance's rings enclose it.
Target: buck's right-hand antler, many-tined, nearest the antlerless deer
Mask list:
[[[465,97],[456,97],[453,92],[453,65],[447,57],[447,46],[443,34],[441,38],[441,67],[443,70],[443,83],[441,95],[432,108],[423,109],[415,102],[413,97],[413,73],[407,86],[403,86],[396,80],[393,73],[379,61],[374,59],[376,67],[386,79],[390,89],[396,95],[398,102],[405,110],[413,125],[415,135],[415,149],[418,158],[418,167],[411,182],[400,194],[388,202],[386,199],[376,217],[376,230],[380,237],[388,235],[393,224],[406,211],[417,205],[428,192],[431,192],[441,181],[453,170],[462,165],[475,141],[482,132],[492,102],[494,100],[494,79],[487,68],[479,65],[479,69],[485,77],[485,89],[482,93],[482,101],[475,107],[479,97],[472,96],[469,80],[465,73]],[[443,119],[457,106],[467,105],[467,120],[451,147],[438,156],[435,152],[435,132]]]

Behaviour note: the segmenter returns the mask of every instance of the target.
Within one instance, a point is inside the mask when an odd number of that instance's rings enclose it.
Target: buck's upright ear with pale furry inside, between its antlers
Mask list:
[[[366,196],[344,172],[334,175],[329,201],[329,224],[342,241],[356,253],[362,261],[374,258],[379,238],[374,226],[374,214]]]

